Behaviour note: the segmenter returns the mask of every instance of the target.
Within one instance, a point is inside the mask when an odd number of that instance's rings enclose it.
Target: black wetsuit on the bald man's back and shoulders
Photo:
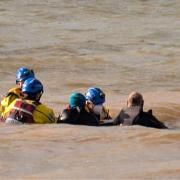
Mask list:
[[[123,108],[114,119],[114,125],[141,125],[152,128],[167,129],[167,127],[152,115],[152,110],[144,112],[140,107]]]

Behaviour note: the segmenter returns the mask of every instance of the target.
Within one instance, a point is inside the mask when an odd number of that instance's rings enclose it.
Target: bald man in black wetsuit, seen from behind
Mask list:
[[[152,128],[167,129],[162,122],[153,116],[152,110],[144,112],[143,106],[143,96],[138,92],[130,93],[127,100],[127,107],[123,108],[114,119],[114,125],[141,125]]]

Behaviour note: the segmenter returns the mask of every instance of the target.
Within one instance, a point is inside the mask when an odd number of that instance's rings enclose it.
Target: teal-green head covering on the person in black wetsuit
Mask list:
[[[83,94],[73,92],[69,97],[69,105],[71,108],[79,107],[82,109],[85,106],[86,98]]]

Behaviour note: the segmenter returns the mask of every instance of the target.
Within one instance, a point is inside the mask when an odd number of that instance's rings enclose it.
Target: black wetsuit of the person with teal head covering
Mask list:
[[[68,123],[75,125],[99,126],[98,118],[91,112],[83,108],[80,112],[76,108],[67,108],[62,112],[62,119],[58,123]]]

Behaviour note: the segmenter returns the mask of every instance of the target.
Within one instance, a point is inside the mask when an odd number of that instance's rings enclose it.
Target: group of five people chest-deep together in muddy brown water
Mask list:
[[[152,110],[143,111],[143,96],[132,92],[127,106],[112,118],[105,108],[105,94],[98,87],[90,87],[85,95],[73,92],[69,105],[55,117],[53,110],[40,102],[43,85],[36,79],[33,70],[20,67],[16,71],[16,86],[10,89],[1,100],[0,121],[7,124],[24,123],[68,123],[89,126],[142,125],[167,129]]]

